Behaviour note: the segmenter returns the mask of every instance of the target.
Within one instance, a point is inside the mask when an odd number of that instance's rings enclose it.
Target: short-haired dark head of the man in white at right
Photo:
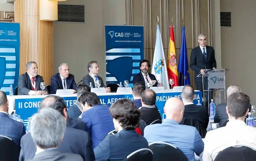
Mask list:
[[[229,115],[235,117],[244,117],[250,104],[250,97],[247,94],[237,92],[228,96],[227,106]]]

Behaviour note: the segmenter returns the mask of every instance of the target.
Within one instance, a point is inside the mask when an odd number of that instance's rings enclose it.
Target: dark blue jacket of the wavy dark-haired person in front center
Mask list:
[[[130,153],[148,148],[147,140],[135,130],[121,130],[106,138],[94,149],[95,159],[122,161]]]

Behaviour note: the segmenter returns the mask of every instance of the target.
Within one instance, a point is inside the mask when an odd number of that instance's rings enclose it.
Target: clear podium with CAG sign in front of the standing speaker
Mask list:
[[[226,103],[226,73],[229,69],[221,70],[210,70],[206,69],[205,74],[201,73],[197,77],[202,77],[203,84],[203,105],[208,107],[213,99],[213,92],[219,92],[219,101],[220,103]],[[224,93],[224,96],[222,96]],[[221,101],[221,98],[224,98],[224,102]]]

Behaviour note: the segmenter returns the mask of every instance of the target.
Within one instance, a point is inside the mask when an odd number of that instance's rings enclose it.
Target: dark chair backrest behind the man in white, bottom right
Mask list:
[[[229,147],[219,152],[214,161],[252,161],[256,158],[256,151],[247,147]]]

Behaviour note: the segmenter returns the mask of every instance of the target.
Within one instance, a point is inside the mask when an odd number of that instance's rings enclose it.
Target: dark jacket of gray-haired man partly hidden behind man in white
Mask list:
[[[219,126],[222,127],[224,123],[228,120],[228,114],[226,110],[227,104],[221,103],[216,106],[215,116],[214,116],[214,123],[219,123]],[[249,112],[252,109],[252,105],[249,104]],[[248,117],[248,115],[247,115]]]

